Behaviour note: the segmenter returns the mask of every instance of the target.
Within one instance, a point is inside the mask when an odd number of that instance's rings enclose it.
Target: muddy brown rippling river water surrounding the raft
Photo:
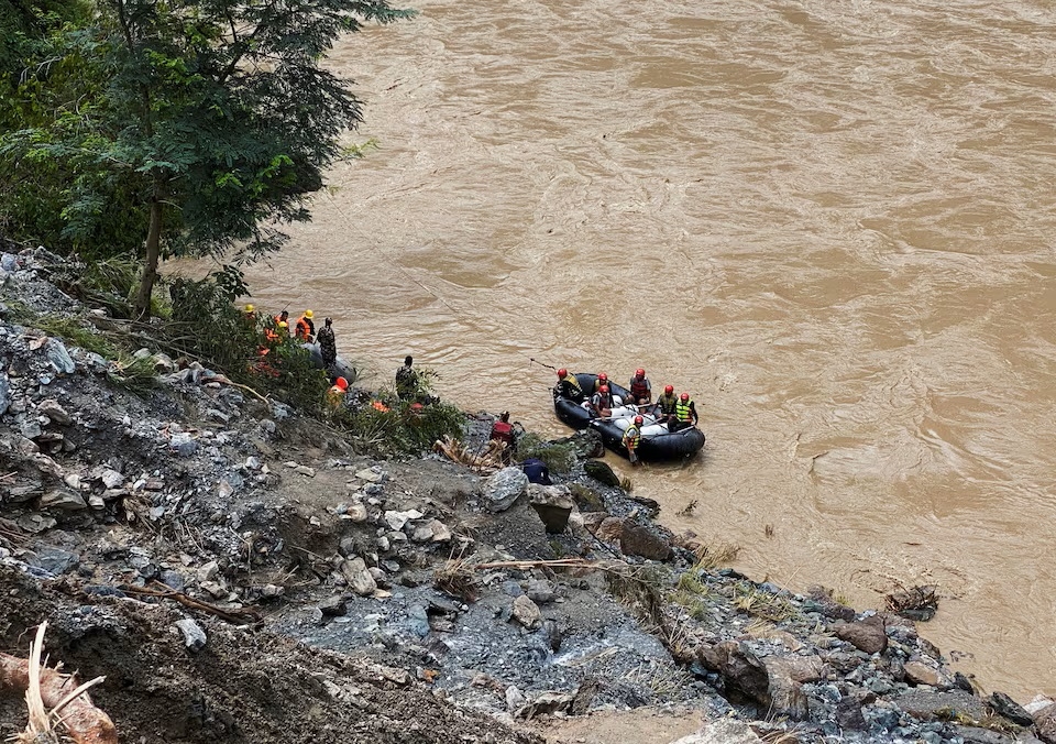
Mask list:
[[[935,583],[957,668],[1056,693],[1056,9],[415,7],[332,55],[377,149],[254,302],[552,435],[531,358],[645,366],[708,437],[632,475],[669,526],[859,608]]]

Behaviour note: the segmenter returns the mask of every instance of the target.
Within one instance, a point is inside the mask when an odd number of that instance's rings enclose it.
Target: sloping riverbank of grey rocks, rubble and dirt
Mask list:
[[[676,704],[746,736],[1056,742],[1050,701],[981,693],[912,621],[722,568],[593,442],[543,489],[378,460],[148,347],[133,392],[25,319],[102,317],[53,260],[2,256],[0,628],[24,654],[50,620],[124,741],[528,742],[528,721]],[[471,422],[479,450],[491,417]]]

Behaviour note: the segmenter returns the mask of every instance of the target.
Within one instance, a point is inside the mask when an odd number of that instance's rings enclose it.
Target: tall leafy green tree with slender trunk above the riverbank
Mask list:
[[[385,0],[96,4],[21,84],[44,116],[8,133],[0,160],[70,174],[62,217],[75,248],[100,225],[140,226],[134,305],[146,317],[162,255],[242,263],[309,219],[339,136],[362,120],[348,81],[320,63],[342,33],[411,11]]]

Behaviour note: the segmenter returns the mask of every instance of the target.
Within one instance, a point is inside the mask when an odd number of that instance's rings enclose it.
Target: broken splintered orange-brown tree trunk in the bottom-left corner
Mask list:
[[[42,628],[43,630],[43,628]],[[43,639],[43,632],[38,635]],[[34,653],[33,659],[20,659],[8,654],[0,654],[0,694],[28,693],[30,702],[31,724],[36,720],[37,725],[62,725],[66,729],[66,736],[76,744],[118,744],[118,730],[110,716],[91,703],[86,690],[88,686],[80,686],[74,675],[64,675],[57,669],[40,665],[40,652]],[[34,667],[36,671],[34,672]],[[36,678],[36,679],[34,679]],[[102,678],[95,681],[102,681]],[[36,694],[33,688],[37,688]],[[41,712],[34,716],[34,698],[43,703],[43,708],[51,711],[43,718],[55,719],[54,723],[40,721]],[[62,723],[57,723],[62,721]],[[37,729],[40,731],[40,729]],[[23,735],[24,736],[24,735]],[[16,737],[13,741],[41,741],[40,737],[25,740]],[[44,740],[47,741],[47,740]],[[58,741],[58,738],[54,738]]]

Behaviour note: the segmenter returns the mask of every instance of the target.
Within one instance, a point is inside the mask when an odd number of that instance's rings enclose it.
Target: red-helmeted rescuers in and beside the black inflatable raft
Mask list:
[[[631,464],[638,464],[638,446],[641,444],[641,427],[645,416],[651,415],[656,423],[666,426],[668,431],[674,433],[696,426],[700,415],[696,413],[696,403],[689,393],[674,394],[674,385],[664,385],[663,393],[653,402],[652,383],[646,376],[642,368],[635,370],[630,384],[627,385],[628,398],[613,392],[608,374],[602,372],[595,378],[593,389],[583,390],[574,374],[564,368],[558,371],[558,383],[554,394],[581,404],[593,418],[606,419],[612,417],[613,408],[628,406],[637,411],[637,415],[624,430],[623,445],[627,449]]]

